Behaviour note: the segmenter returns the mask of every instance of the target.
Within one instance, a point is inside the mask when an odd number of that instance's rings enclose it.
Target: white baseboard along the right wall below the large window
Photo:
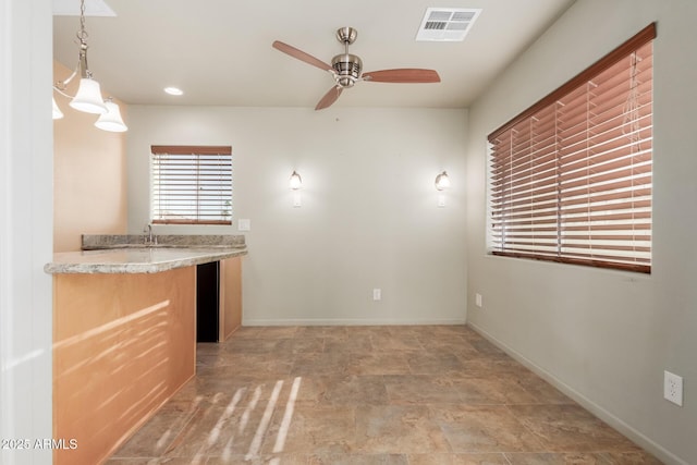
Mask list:
[[[683,461],[682,458],[680,458],[678,456],[676,456],[665,448],[661,446],[650,438],[643,435],[640,431],[627,425],[621,418],[614,416],[607,409],[602,408],[601,406],[592,402],[590,399],[586,397],[585,395],[583,395],[582,393],[573,389],[571,386],[561,381],[551,372],[539,367],[538,365],[536,365],[530,359],[526,358],[524,355],[522,355],[517,351],[513,350],[509,345],[504,344],[503,342],[499,341],[498,339],[489,334],[487,331],[482,330],[476,325],[473,325],[472,322],[468,322],[467,326],[473,330],[475,330],[477,333],[481,334],[485,339],[490,341],[492,344],[494,344],[496,346],[504,351],[515,360],[519,362],[526,368],[530,369],[533,372],[535,372],[537,376],[542,378],[545,381],[549,382],[554,388],[562,391],[564,394],[568,395],[571,399],[573,399],[575,402],[580,404],[588,412],[590,412],[591,414],[594,414],[595,416],[597,416],[598,418],[600,418],[601,420],[610,425],[612,428],[620,431],[622,435],[629,438],[640,448],[644,448],[651,454],[656,455],[656,457],[659,458],[661,462],[664,462],[665,464],[671,464],[671,465],[688,465],[687,462]]]

